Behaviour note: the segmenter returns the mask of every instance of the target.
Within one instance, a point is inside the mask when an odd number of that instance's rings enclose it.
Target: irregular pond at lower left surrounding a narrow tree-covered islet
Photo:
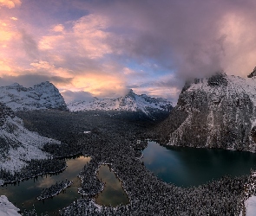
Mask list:
[[[56,215],[54,213],[58,212],[58,209],[68,206],[75,200],[75,197],[78,198],[80,196],[77,193],[77,188],[81,187],[81,181],[77,175],[89,160],[90,157],[85,156],[67,159],[68,168],[62,173],[58,175],[38,176],[36,179],[21,181],[16,186],[7,185],[0,187],[0,195],[6,195],[20,209],[23,209],[23,206],[26,209],[32,209],[34,205],[38,215],[45,212],[48,212],[49,215]],[[49,200],[36,200],[36,197],[41,194],[43,187],[50,187],[56,181],[65,179],[74,182],[65,192]]]

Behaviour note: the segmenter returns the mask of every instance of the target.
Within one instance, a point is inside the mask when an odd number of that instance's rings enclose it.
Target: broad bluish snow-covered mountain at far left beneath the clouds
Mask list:
[[[10,106],[14,111],[37,109],[67,110],[62,95],[49,81],[30,88],[14,83],[0,87],[0,102]]]

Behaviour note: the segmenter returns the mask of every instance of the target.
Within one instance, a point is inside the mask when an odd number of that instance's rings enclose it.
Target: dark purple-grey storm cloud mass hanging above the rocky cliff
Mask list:
[[[256,18],[250,0],[95,1],[90,6],[115,26],[110,30],[119,37],[109,43],[116,54],[154,60],[183,80],[226,69],[222,59],[230,37],[222,29],[225,16]]]

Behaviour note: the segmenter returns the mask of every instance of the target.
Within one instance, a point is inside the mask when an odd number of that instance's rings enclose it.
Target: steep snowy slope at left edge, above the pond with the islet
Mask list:
[[[24,161],[47,159],[49,154],[41,150],[45,143],[60,142],[25,129],[23,120],[17,118],[9,107],[0,103],[0,168],[20,170],[26,165]]]

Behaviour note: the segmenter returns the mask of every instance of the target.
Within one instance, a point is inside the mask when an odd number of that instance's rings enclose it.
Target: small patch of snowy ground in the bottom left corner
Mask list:
[[[14,206],[6,196],[0,196],[0,215],[1,216],[21,216],[19,208]]]

